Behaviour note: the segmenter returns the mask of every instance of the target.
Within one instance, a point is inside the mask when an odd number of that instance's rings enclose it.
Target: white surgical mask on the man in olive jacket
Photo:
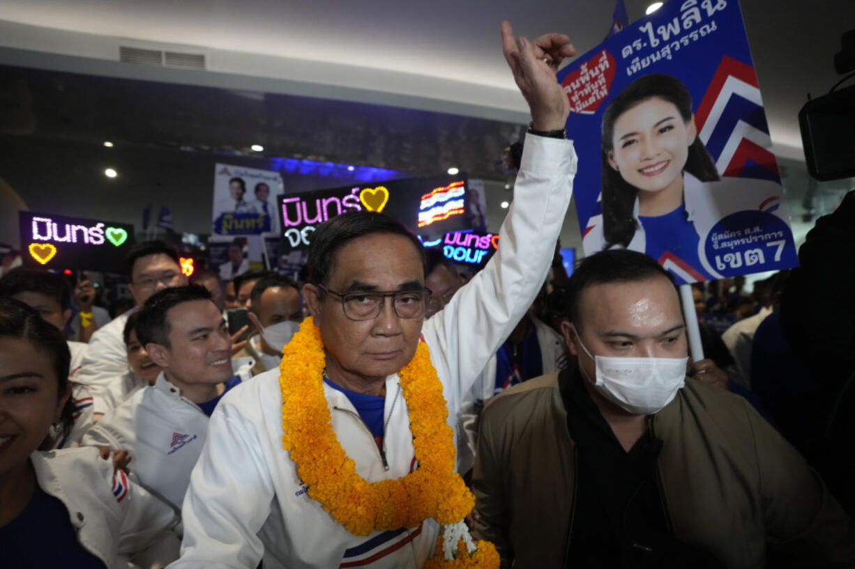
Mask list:
[[[572,326],[572,325],[571,325]],[[575,326],[574,326],[575,330]],[[685,358],[624,358],[591,355],[576,331],[581,349],[597,366],[596,381],[587,378],[595,390],[610,402],[637,415],[658,413],[686,384]],[[585,368],[582,367],[582,372]]]

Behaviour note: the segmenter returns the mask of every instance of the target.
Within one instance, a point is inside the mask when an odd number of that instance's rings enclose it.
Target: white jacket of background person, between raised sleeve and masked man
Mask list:
[[[567,366],[567,352],[564,349],[563,338],[545,322],[534,316],[529,318],[534,322],[534,330],[537,333],[543,374],[562,370]],[[475,466],[478,420],[481,417],[481,406],[495,395],[496,366],[496,355],[493,354],[484,371],[475,380],[472,389],[463,398],[457,419],[457,472],[462,474],[469,472],[469,469]]]

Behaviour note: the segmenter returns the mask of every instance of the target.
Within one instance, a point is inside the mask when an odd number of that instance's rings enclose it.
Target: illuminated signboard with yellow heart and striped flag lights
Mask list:
[[[414,233],[469,229],[465,176],[396,179],[279,197],[282,253],[306,249],[315,226],[351,211],[387,214]]]

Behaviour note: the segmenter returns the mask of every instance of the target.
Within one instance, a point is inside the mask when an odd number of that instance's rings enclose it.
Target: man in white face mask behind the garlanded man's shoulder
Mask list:
[[[253,375],[279,367],[282,348],[291,341],[303,321],[303,302],[297,285],[277,273],[269,273],[252,287],[250,321],[255,333],[240,355],[256,360]]]

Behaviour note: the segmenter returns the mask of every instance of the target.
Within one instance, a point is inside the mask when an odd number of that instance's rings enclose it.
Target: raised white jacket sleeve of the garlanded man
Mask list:
[[[543,285],[575,171],[572,142],[526,137],[514,202],[499,231],[496,254],[441,312],[425,322],[422,333],[452,415]]]

